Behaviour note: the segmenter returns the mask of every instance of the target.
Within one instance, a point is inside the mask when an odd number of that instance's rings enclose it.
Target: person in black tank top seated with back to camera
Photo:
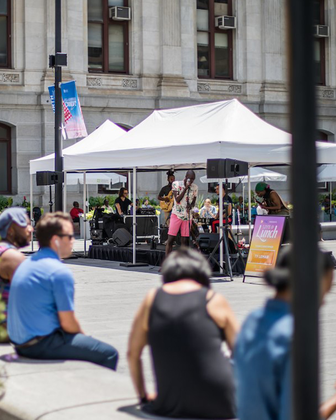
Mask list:
[[[151,290],[129,336],[131,376],[143,409],[167,417],[236,417],[230,360],[238,325],[224,297],[210,289],[210,266],[198,252],[181,248],[163,262],[163,286]],[[146,393],[141,353],[150,345],[157,396]],[[147,404],[148,403],[148,404]]]

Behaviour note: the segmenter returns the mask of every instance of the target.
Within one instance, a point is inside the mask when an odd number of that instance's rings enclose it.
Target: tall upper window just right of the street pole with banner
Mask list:
[[[128,21],[113,21],[109,7],[128,6],[128,0],[88,0],[89,71],[129,72]]]

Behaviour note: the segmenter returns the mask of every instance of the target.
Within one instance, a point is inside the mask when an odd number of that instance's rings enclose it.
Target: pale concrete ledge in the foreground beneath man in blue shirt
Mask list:
[[[16,358],[0,347],[5,394],[1,420],[107,420],[136,415],[137,398],[129,376],[89,362]]]

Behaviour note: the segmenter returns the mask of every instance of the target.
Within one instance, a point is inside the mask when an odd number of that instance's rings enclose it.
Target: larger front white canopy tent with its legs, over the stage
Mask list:
[[[318,162],[336,163],[336,144],[317,142],[316,145]],[[236,99],[156,110],[123,135],[120,142],[96,147],[94,152],[65,153],[64,168],[67,171],[133,168],[135,192],[137,168],[205,168],[210,158],[243,160],[250,167],[290,163],[291,135],[263,121]],[[248,184],[250,202],[250,182]],[[221,192],[222,189],[220,202]],[[249,210],[249,224],[250,220]],[[135,215],[133,223],[135,225]],[[220,214],[220,228],[221,224]],[[135,240],[134,233],[134,263]]]

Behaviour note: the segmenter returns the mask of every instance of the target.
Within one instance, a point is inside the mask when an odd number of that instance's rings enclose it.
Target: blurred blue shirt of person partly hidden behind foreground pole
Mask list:
[[[239,420],[291,418],[292,335],[289,304],[280,299],[245,320],[234,349]]]

